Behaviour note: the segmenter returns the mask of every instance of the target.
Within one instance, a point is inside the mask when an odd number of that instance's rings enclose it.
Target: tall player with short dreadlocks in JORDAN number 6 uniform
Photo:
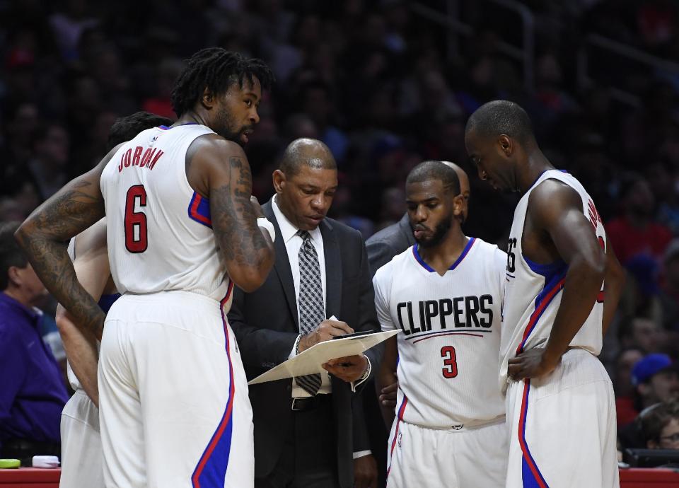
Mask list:
[[[74,323],[104,332],[98,385],[108,487],[253,486],[252,409],[224,318],[233,285],[256,289],[274,262],[272,225],[250,200],[250,167],[232,142],[248,141],[271,81],[257,59],[197,52],[173,88],[178,121],[117,146],[17,232]],[[104,214],[122,294],[105,329],[63,244]]]

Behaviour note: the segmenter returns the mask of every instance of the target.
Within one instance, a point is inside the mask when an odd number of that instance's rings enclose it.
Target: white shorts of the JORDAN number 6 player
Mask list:
[[[168,291],[112,306],[98,375],[106,487],[253,487],[253,412],[221,303]]]

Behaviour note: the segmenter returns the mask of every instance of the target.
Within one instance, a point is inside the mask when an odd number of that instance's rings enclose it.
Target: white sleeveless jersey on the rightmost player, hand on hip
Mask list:
[[[507,361],[526,349],[544,346],[547,343],[561,303],[567,264],[561,260],[549,265],[530,262],[523,255],[521,245],[530,192],[543,181],[550,179],[564,182],[580,194],[582,211],[592,224],[601,248],[605,250],[606,233],[603,222],[594,202],[580,182],[559,170],[547,170],[542,173],[516,205],[509,233],[500,366],[500,385],[503,390],[507,382]],[[570,346],[586,349],[598,355],[602,344],[602,318],[603,292],[600,293],[594,308]]]

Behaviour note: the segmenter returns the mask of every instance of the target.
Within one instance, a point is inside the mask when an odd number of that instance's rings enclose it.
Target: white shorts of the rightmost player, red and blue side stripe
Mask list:
[[[615,397],[600,361],[571,349],[547,376],[510,381],[508,488],[620,486]]]

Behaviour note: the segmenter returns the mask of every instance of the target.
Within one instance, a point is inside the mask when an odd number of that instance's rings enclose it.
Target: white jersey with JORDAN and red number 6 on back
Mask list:
[[[101,175],[111,274],[121,294],[183,290],[221,300],[229,286],[209,200],[186,178],[200,124],[153,127],[123,144]],[[228,310],[228,303],[226,310]]]

